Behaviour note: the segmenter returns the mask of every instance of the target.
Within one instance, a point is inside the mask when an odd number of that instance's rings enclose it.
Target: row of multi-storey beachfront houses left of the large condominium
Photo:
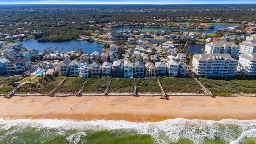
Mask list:
[[[188,66],[184,62],[177,62],[174,58],[164,62],[144,62],[137,61],[135,63],[121,60],[112,62],[93,62],[89,64],[79,60],[70,62],[70,59],[58,64],[58,72],[62,75],[78,76],[82,78],[113,76],[116,78],[133,78],[135,77],[154,77],[154,76],[186,76],[188,74]]]

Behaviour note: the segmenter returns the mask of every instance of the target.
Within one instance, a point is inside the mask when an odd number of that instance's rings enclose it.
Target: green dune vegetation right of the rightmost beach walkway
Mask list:
[[[198,80],[216,96],[231,96],[233,94],[255,94],[256,80],[214,80],[198,78]]]

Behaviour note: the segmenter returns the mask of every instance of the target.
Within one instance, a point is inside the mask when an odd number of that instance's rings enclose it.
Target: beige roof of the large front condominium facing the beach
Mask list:
[[[198,61],[208,61],[208,60],[230,60],[230,61],[237,61],[236,59],[232,58],[230,54],[195,54],[193,56]]]

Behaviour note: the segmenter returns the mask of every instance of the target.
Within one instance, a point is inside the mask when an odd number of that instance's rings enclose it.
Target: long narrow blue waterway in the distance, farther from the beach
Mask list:
[[[214,30],[185,30],[185,29],[174,29],[174,28],[159,28],[159,27],[124,27],[118,28],[116,30],[107,30],[108,32],[121,32],[122,30],[129,30],[129,29],[137,29],[140,30],[159,30],[159,31],[179,31],[179,32],[199,32],[199,33],[208,33],[214,34],[219,28],[227,28],[230,26],[236,26],[236,24],[209,24],[210,26],[214,26]]]

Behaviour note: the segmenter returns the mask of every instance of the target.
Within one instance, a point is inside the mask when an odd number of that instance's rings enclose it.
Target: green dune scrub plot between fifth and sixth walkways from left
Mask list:
[[[137,92],[140,93],[161,93],[156,78],[135,78]]]

